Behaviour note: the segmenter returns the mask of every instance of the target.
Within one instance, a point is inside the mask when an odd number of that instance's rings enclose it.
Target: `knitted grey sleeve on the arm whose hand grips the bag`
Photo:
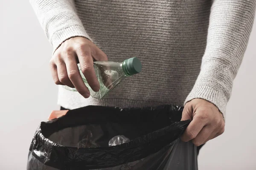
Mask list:
[[[201,98],[225,117],[233,80],[241,65],[253,25],[256,0],[214,0],[201,72],[186,102]]]

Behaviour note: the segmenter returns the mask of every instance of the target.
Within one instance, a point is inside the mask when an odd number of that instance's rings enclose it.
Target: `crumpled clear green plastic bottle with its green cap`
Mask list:
[[[102,99],[123,79],[140,73],[142,69],[141,62],[137,57],[125,59],[123,62],[96,61],[93,62],[93,66],[100,85],[99,91],[97,92],[90,88],[84,74],[81,71],[80,64],[78,64],[84,84],[89,89],[90,95],[97,99]],[[66,85],[63,87],[69,91],[77,91],[76,88],[70,88]]]

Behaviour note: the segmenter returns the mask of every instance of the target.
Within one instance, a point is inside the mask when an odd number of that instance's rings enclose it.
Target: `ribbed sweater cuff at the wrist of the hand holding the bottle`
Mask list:
[[[62,42],[72,37],[84,37],[92,41],[83,26],[79,26],[79,25],[69,26],[67,28],[63,28],[59,31],[56,31],[52,35],[52,38],[50,41],[52,42],[53,53],[62,44]]]

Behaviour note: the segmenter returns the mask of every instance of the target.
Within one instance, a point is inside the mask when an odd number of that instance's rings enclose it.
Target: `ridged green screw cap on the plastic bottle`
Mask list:
[[[122,62],[122,68],[126,76],[132,76],[134,74],[140,73],[142,65],[137,57],[125,59]]]

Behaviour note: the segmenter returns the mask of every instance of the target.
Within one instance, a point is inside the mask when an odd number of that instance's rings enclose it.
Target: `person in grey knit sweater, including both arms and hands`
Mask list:
[[[200,146],[224,132],[225,108],[253,25],[256,0],[31,0],[52,43],[58,104],[120,108],[183,105],[192,122],[182,136]],[[107,57],[108,56],[108,57]],[[138,57],[143,71],[105,99],[93,60]]]

